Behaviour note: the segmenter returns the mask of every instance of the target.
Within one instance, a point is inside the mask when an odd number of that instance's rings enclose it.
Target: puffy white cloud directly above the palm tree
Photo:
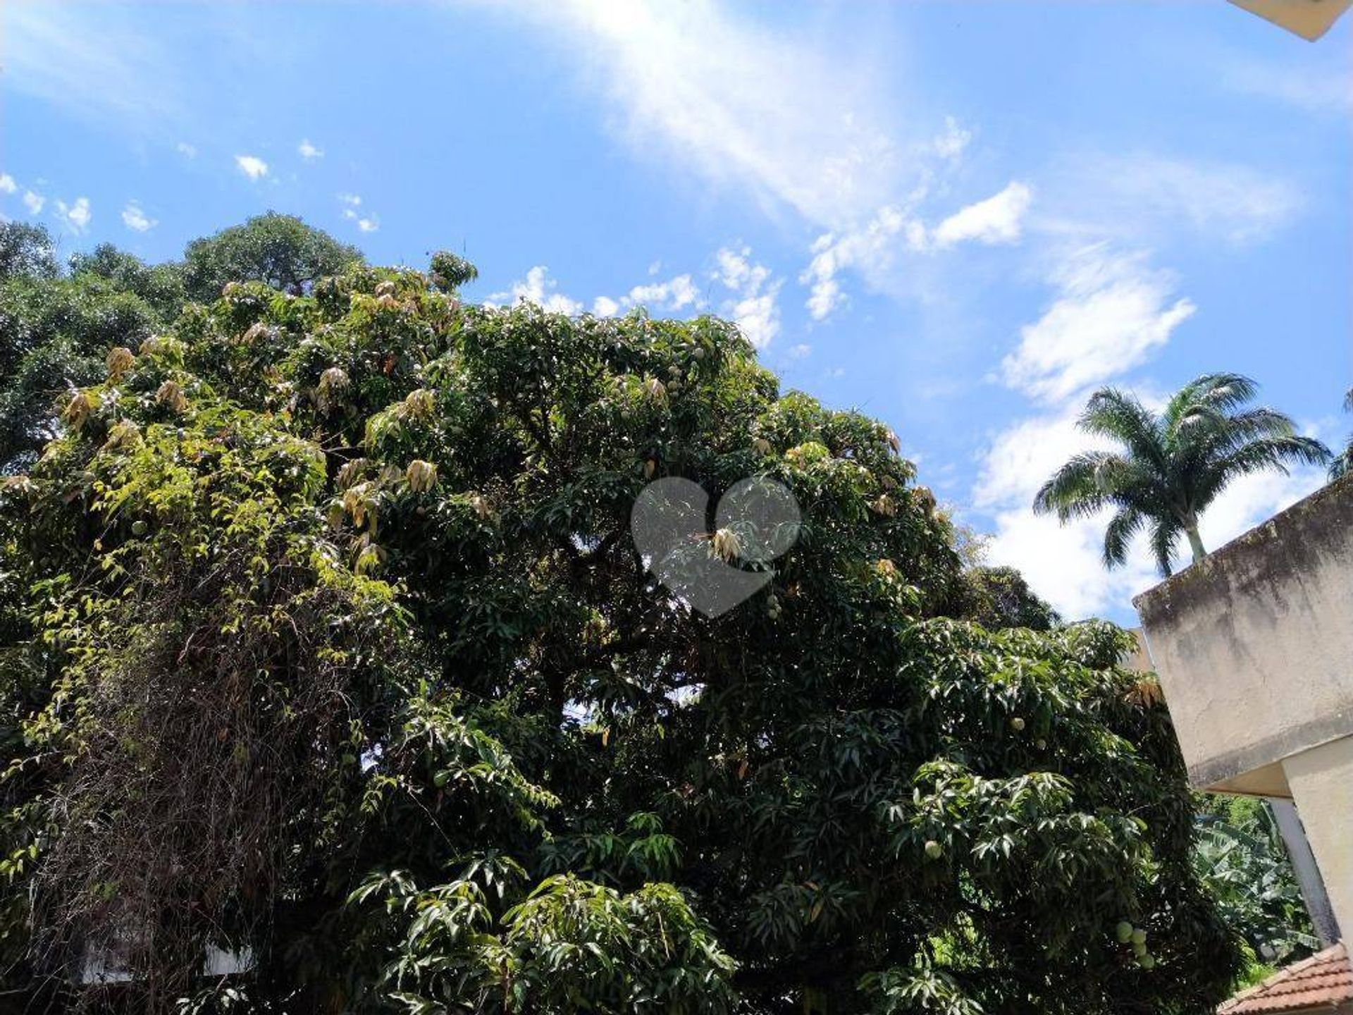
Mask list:
[[[1142,254],[1112,253],[1105,244],[1073,253],[1053,281],[1057,300],[1020,329],[1019,348],[1001,363],[1007,384],[1045,402],[1141,364],[1196,310],[1174,298],[1169,272],[1147,267]]]

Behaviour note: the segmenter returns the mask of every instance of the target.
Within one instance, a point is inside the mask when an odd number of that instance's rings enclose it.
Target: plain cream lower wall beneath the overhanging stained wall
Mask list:
[[[1353,736],[1283,759],[1345,939],[1353,938]]]

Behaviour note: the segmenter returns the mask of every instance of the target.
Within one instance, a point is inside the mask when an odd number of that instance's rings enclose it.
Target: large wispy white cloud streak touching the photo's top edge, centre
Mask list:
[[[571,55],[589,61],[645,156],[737,183],[836,227],[886,203],[900,171],[896,108],[858,51],[689,0],[522,0]]]

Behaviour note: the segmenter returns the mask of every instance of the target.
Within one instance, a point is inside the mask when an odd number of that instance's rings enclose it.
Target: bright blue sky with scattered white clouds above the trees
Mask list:
[[[1139,554],[1032,491],[1088,390],[1212,369],[1330,443],[1353,383],[1353,18],[1222,0],[0,8],[0,212],[146,258],[267,208],[472,295],[736,318],[888,420],[1069,616]],[[1319,483],[1237,484],[1216,545]]]

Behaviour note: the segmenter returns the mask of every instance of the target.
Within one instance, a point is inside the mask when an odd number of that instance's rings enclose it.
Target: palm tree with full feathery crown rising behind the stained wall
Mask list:
[[[1150,529],[1162,575],[1170,574],[1180,533],[1197,563],[1207,556],[1197,517],[1227,483],[1250,472],[1287,472],[1293,463],[1330,460],[1330,449],[1298,436],[1289,417],[1245,409],[1257,392],[1258,384],[1249,378],[1207,374],[1185,384],[1157,414],[1116,388],[1096,391],[1080,428],[1122,448],[1074,456],[1038,491],[1034,510],[1055,512],[1066,522],[1116,508],[1104,532],[1108,567],[1127,559],[1132,536],[1143,529]]]

